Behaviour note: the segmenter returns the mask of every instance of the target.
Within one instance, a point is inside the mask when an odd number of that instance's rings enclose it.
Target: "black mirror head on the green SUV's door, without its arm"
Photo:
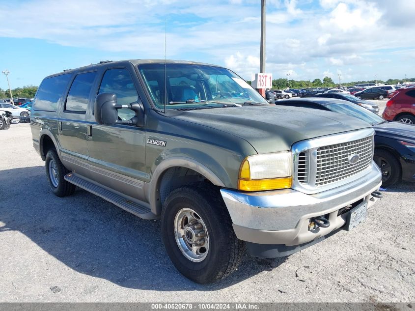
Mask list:
[[[95,98],[94,115],[99,124],[115,124],[118,120],[117,95],[101,93]]]

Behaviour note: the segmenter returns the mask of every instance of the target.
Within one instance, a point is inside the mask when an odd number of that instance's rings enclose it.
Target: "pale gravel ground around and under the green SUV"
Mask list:
[[[171,264],[159,221],[83,190],[55,197],[29,124],[0,131],[0,146],[0,302],[415,301],[414,184],[388,189],[351,232],[286,258],[245,255],[206,286]]]

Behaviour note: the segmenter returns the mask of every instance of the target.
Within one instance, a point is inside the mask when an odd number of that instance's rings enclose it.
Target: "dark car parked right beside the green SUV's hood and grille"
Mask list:
[[[382,186],[401,180],[415,181],[415,126],[387,122],[351,102],[331,98],[301,98],[280,100],[276,105],[330,110],[357,117],[371,124],[375,134],[373,159],[382,171]]]

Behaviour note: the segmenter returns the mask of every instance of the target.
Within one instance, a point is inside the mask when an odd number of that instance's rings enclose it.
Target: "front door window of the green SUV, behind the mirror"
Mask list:
[[[131,104],[138,99],[136,86],[127,69],[109,69],[105,72],[98,94],[107,92],[117,95],[118,105]],[[129,120],[134,115],[128,108],[118,109],[118,117],[122,120]]]

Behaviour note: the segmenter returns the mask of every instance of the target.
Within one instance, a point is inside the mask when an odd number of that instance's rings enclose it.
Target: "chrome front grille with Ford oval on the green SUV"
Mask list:
[[[367,128],[300,141],[292,151],[293,189],[318,193],[356,180],[370,170],[374,131]]]

